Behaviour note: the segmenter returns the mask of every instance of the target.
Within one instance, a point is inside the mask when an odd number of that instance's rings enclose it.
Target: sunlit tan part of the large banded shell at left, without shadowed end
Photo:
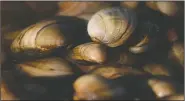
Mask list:
[[[48,20],[29,26],[13,41],[12,52],[42,55],[66,45],[67,38],[61,32],[60,24],[57,20]]]

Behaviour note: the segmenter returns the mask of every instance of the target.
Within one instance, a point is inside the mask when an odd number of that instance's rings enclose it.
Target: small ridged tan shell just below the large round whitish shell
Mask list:
[[[107,58],[106,47],[98,43],[85,43],[72,49],[69,57],[75,61],[104,63]]]

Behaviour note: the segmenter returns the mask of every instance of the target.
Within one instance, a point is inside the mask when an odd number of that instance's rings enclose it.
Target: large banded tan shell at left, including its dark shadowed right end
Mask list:
[[[78,30],[70,22],[79,24]],[[56,48],[71,44],[72,37],[77,36],[78,32],[79,35],[84,34],[81,29],[84,25],[85,22],[73,17],[56,17],[38,22],[21,31],[11,45],[11,51],[15,55],[23,54],[28,57],[50,54]],[[79,42],[81,40],[74,43]]]

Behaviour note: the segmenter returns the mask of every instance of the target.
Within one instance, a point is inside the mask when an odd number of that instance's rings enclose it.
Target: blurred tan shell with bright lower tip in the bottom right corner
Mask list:
[[[150,78],[148,79],[148,85],[151,87],[157,98],[163,98],[183,92],[183,84],[168,77],[158,76]]]

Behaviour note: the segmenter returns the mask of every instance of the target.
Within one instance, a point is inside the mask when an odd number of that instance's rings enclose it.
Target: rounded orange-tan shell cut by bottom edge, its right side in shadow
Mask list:
[[[127,92],[122,84],[107,80],[98,75],[83,75],[73,85],[74,100],[118,100],[127,99]]]

